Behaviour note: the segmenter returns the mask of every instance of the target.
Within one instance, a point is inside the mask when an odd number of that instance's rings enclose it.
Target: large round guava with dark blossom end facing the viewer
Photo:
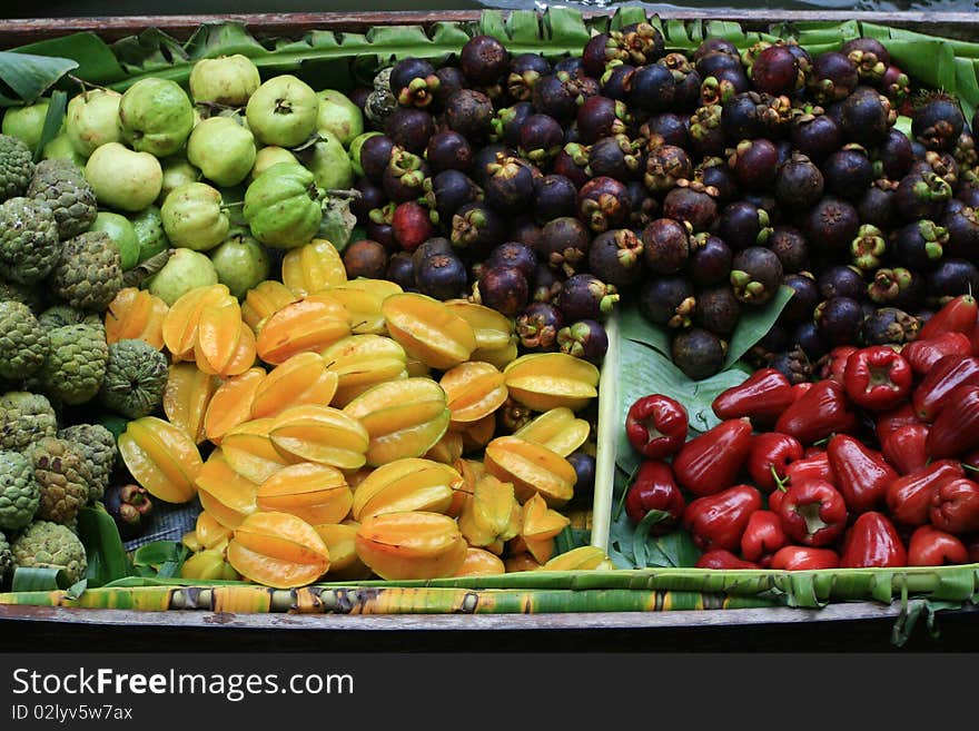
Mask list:
[[[245,117],[263,145],[296,147],[316,131],[319,100],[308,83],[290,73],[265,81],[248,99]]]

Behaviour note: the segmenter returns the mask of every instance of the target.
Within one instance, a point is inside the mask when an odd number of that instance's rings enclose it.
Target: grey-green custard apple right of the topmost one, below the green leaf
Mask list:
[[[59,238],[87,230],[98,214],[96,192],[70,160],[41,160],[34,167],[27,196],[42,200],[55,214]]]

